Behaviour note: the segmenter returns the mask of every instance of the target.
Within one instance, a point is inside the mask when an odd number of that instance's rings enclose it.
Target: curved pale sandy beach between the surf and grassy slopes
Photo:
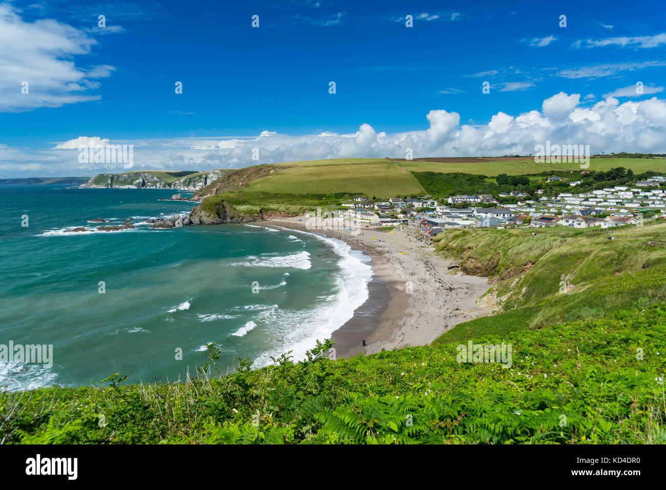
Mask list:
[[[474,302],[490,288],[486,278],[456,272],[455,262],[429,245],[410,241],[405,231],[396,228],[391,233],[365,225],[348,231],[330,220],[314,228],[306,227],[306,222],[308,216],[303,215],[264,224],[338,238],[371,259],[374,277],[368,300],[332,335],[338,357],[430,344],[457,324],[490,313]]]

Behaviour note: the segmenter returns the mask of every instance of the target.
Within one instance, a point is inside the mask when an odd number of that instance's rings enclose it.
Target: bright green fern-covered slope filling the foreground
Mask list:
[[[5,443],[666,443],[666,308],[474,342],[511,366],[456,360],[456,342],[186,383],[0,393]],[[218,354],[210,346],[212,373]],[[203,355],[202,355],[203,356]],[[208,370],[206,369],[206,370]]]

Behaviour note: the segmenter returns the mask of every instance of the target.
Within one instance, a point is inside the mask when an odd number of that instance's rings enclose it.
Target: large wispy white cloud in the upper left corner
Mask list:
[[[53,19],[25,22],[9,3],[0,4],[0,112],[95,101],[95,81],[113,67],[77,67],[76,55],[87,55],[97,41],[83,31]]]

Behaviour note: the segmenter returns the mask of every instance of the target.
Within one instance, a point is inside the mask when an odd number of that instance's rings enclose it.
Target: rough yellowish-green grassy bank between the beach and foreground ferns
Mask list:
[[[531,236],[532,232],[536,236]],[[615,240],[607,240],[609,235]],[[666,300],[666,222],[614,230],[450,230],[437,250],[489,276],[482,298],[501,312],[460,324],[441,342],[595,318]]]

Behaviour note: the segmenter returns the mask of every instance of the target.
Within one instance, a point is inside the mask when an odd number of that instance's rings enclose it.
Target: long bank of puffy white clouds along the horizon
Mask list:
[[[587,99],[583,99],[587,100]],[[592,152],[666,152],[666,101],[652,97],[620,103],[615,97],[581,103],[580,94],[557,93],[539,110],[498,112],[487,124],[461,124],[456,112],[430,111],[423,128],[386,134],[360,124],[347,134],[320,131],[290,135],[263,131],[229,138],[165,138],[140,141],[79,136],[55,148],[29,150],[0,144],[0,176],[86,176],[123,172],[122,164],[80,164],[80,144],[134,144],[133,170],[209,170],[321,158],[415,158],[529,154],[537,144],[589,144]],[[252,160],[258,148],[259,160]]]

